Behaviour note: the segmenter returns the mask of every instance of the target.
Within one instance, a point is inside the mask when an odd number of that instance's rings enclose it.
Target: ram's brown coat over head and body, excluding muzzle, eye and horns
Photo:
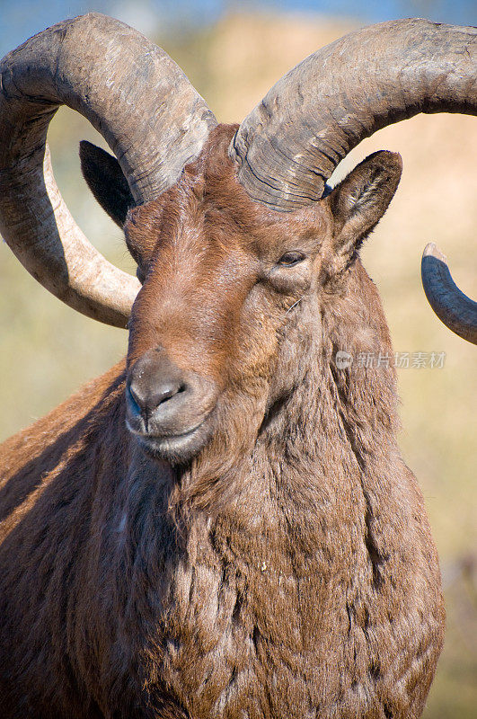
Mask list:
[[[277,213],[236,182],[233,130],[129,213],[146,282],[127,369],[0,450],[4,717],[422,712],[444,609],[392,363],[334,362],[392,352],[357,248],[399,162]],[[297,248],[309,260],[280,269]],[[210,439],[178,465],[125,427],[128,372],[159,342],[217,387]]]

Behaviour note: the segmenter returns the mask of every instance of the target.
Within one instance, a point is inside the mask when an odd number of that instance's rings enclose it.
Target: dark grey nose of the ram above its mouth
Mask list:
[[[128,389],[147,423],[161,404],[187,392],[183,372],[163,353],[147,353],[131,371]]]

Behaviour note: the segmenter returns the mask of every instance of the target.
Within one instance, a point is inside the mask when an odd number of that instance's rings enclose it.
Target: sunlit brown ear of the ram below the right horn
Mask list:
[[[402,173],[401,155],[375,152],[331,191],[334,252],[346,263],[383,217]]]

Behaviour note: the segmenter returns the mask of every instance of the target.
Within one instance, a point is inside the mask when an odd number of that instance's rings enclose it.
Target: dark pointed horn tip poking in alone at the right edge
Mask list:
[[[446,255],[429,243],[420,264],[422,286],[428,303],[449,330],[477,344],[477,302],[456,286],[447,266]]]

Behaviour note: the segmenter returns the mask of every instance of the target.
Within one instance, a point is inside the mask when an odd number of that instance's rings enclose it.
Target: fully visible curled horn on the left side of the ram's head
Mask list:
[[[46,135],[62,104],[102,134],[137,204],[177,181],[216,119],[162,49],[99,13],[59,22],[0,63],[0,232],[67,305],[125,327],[140,285],[89,244],[51,171]]]

